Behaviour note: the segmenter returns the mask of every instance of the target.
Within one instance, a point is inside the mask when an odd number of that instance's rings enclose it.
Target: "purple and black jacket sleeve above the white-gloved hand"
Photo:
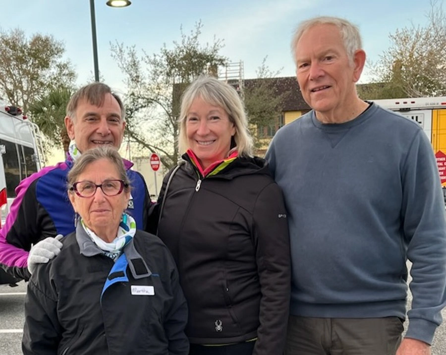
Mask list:
[[[40,205],[36,198],[36,182],[24,179],[16,188],[6,222],[0,230],[0,265],[12,276],[28,280],[28,251],[41,236]],[[55,234],[56,235],[56,234]]]

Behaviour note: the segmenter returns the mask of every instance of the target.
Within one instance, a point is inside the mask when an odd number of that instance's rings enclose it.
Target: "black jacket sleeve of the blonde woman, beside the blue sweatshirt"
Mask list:
[[[271,183],[254,209],[253,237],[262,298],[254,355],[283,354],[290,297],[288,223],[282,192]]]

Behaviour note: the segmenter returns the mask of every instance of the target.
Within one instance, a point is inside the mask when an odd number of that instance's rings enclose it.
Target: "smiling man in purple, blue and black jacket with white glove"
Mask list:
[[[121,99],[108,85],[95,82],[72,96],[66,108],[65,126],[74,144],[70,145],[66,160],[22,180],[0,230],[0,266],[6,272],[28,280],[35,263],[48,262],[57,255],[61,237],[54,236],[66,236],[75,230],[66,176],[82,152],[98,146],[119,148],[124,135],[124,115]],[[130,170],[133,164],[126,160],[123,163],[133,187],[126,212],[135,219],[138,229],[144,230],[150,195],[141,174]],[[101,188],[111,191],[108,190],[111,186]]]

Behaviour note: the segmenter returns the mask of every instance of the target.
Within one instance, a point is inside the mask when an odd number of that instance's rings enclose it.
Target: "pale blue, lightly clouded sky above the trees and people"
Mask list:
[[[89,0],[0,0],[0,27],[20,27],[53,35],[63,41],[66,58],[78,74],[79,85],[93,75],[93,50]],[[221,54],[230,61],[244,62],[245,78],[256,77],[256,69],[268,56],[272,71],[294,75],[290,39],[297,23],[318,15],[344,17],[359,26],[368,59],[376,60],[389,47],[389,33],[411,23],[424,25],[429,0],[132,0],[125,8],[111,8],[106,0],[95,0],[99,68],[106,83],[125,90],[110,42],[135,45],[147,53],[159,53],[164,43],[180,39],[202,21],[202,42],[214,36],[224,40]],[[142,52],[141,52],[142,53]],[[367,81],[363,74],[361,82]]]

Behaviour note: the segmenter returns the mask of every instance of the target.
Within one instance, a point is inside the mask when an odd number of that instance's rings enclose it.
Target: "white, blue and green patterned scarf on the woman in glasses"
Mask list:
[[[93,242],[104,251],[104,255],[116,260],[121,254],[125,245],[135,236],[136,222],[132,216],[123,213],[122,220],[119,223],[117,236],[111,241],[107,242],[104,239],[98,237],[92,230],[90,230],[81,220],[82,227]]]

